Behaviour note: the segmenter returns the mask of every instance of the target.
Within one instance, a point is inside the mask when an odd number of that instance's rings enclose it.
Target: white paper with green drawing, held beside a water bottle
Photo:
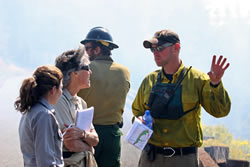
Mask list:
[[[125,140],[135,146],[136,148],[143,150],[148,140],[150,139],[153,130],[144,125],[140,120],[135,118],[135,121],[128,131]]]

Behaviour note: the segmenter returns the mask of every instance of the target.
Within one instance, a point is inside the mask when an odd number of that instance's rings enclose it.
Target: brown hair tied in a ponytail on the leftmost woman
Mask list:
[[[62,72],[55,66],[38,67],[32,77],[23,81],[20,95],[14,103],[15,109],[21,113],[28,112],[53,86],[59,88],[62,78]]]

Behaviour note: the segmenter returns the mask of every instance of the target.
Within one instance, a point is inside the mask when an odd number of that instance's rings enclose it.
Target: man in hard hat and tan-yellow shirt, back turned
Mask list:
[[[120,167],[122,115],[130,88],[128,69],[113,61],[118,48],[106,28],[95,27],[81,41],[90,57],[91,87],[78,95],[94,106],[93,124],[99,136],[95,158],[99,167]]]

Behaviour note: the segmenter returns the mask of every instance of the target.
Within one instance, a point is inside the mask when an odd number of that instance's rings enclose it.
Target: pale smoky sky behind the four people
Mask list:
[[[0,0],[0,117],[13,114],[16,119],[13,102],[22,80],[38,66],[54,64],[62,52],[78,48],[96,26],[109,29],[119,45],[112,57],[131,72],[130,102],[143,78],[158,68],[142,45],[156,31],[177,32],[184,65],[205,73],[214,54],[224,55],[230,62],[223,84],[231,113],[221,119],[204,113],[202,121],[223,124],[237,137],[250,139],[231,126],[232,121],[244,125],[245,114],[250,119],[248,0]]]

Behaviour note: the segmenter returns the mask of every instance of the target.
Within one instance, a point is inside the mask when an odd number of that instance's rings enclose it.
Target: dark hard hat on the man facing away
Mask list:
[[[104,46],[107,46],[110,49],[116,49],[119,46],[113,43],[113,38],[110,35],[108,29],[104,27],[95,27],[92,28],[87,34],[86,38],[81,41],[81,44],[85,44],[90,41],[99,41]]]

